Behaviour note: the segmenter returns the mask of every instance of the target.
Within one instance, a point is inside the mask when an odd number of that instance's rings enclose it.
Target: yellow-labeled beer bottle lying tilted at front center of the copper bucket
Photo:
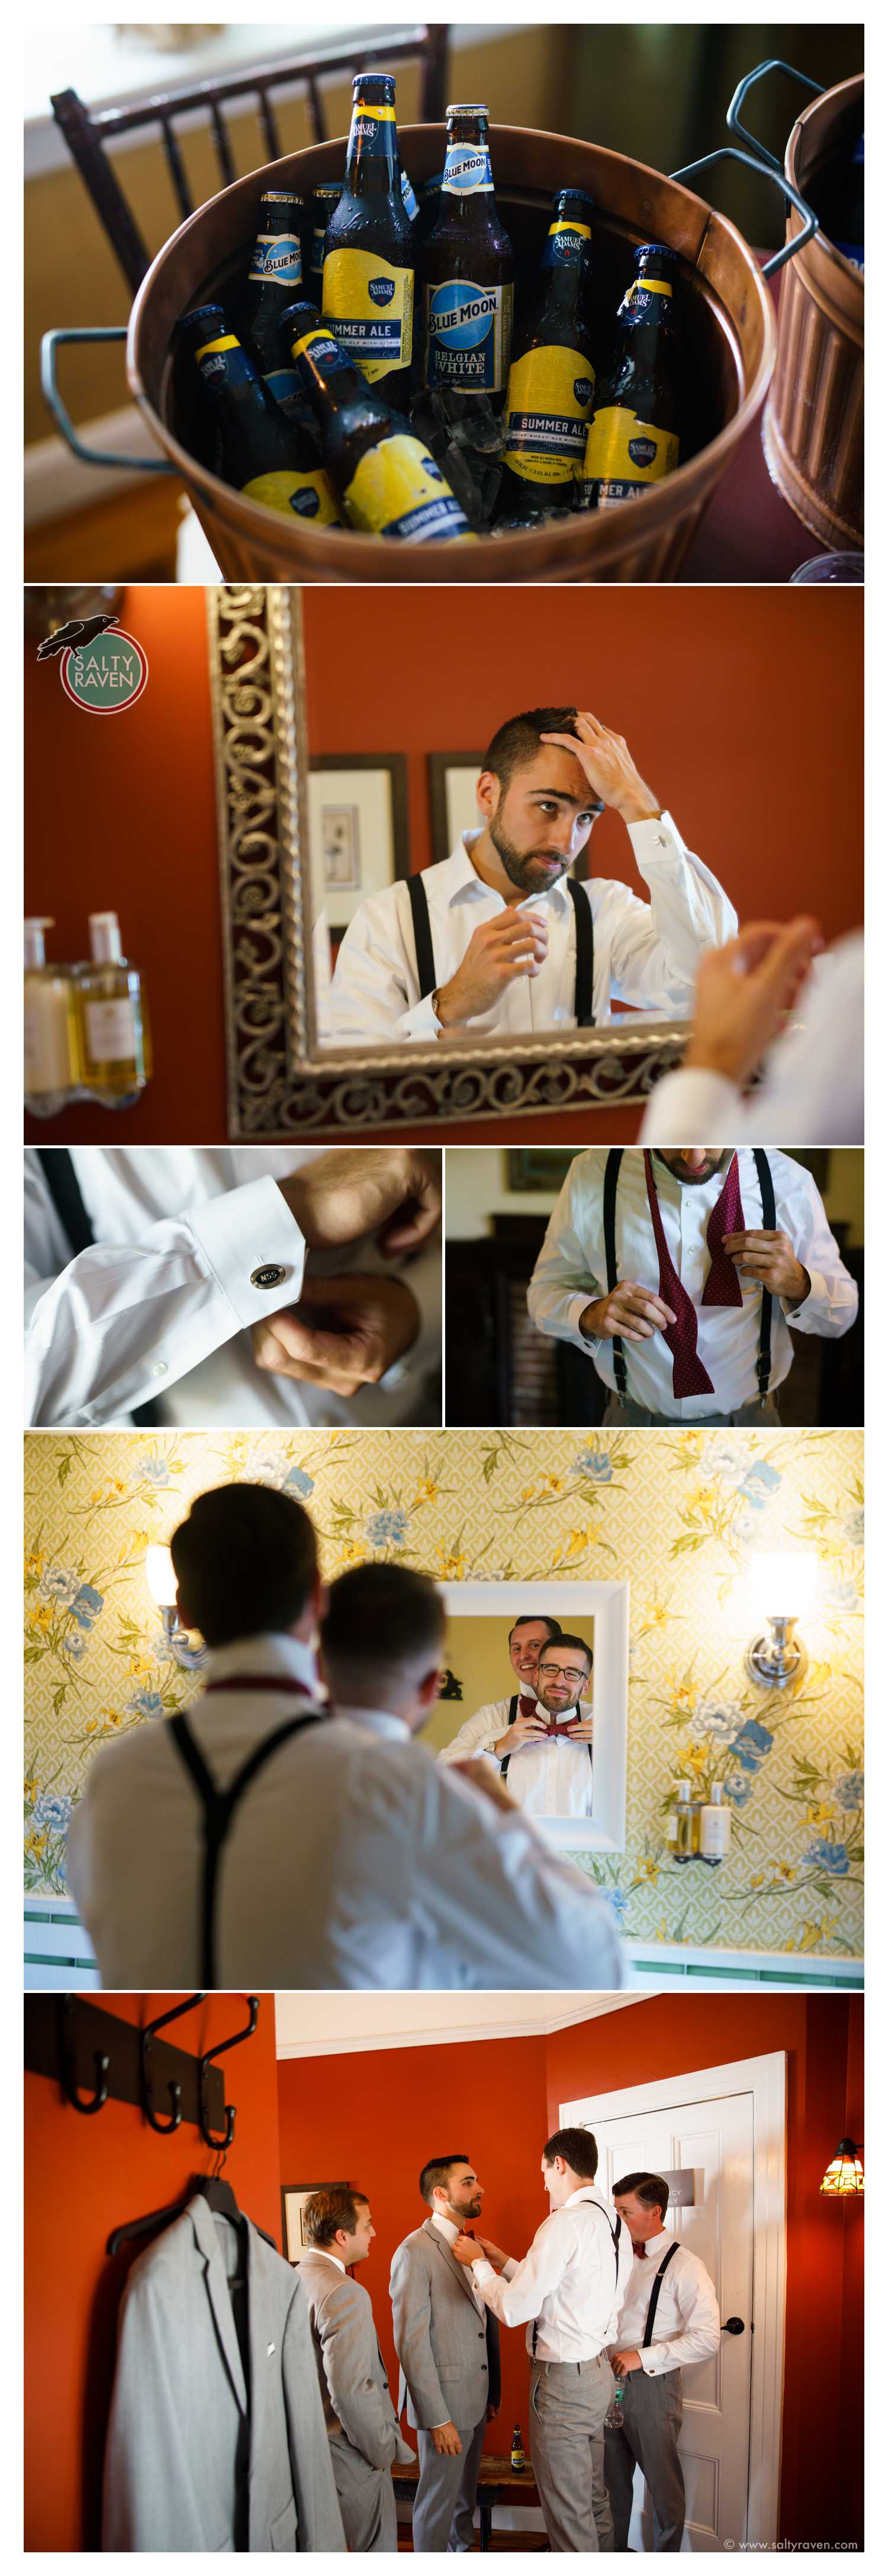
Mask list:
[[[466,538],[468,520],[440,466],[347,358],[311,304],[291,304],[281,340],[324,438],[324,466],[345,518],[368,536]]]

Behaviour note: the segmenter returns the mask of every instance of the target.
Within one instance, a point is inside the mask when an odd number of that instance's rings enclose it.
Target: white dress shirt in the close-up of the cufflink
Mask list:
[[[69,1244],[36,1151],[26,1151],[26,1419],[108,1425],[157,1404],[162,1425],[422,1422],[440,1365],[440,1247],[384,1262],[363,1239],[306,1252],[278,1180],[327,1146],[75,1146],[98,1236]],[[378,1386],[337,1396],[255,1365],[250,1324],[311,1278],[386,1270],[409,1285],[420,1332]],[[281,1283],[257,1288],[273,1265]],[[425,1406],[425,1412],[422,1412]]]

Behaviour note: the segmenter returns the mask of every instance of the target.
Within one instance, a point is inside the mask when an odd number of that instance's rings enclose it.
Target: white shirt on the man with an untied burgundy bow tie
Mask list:
[[[695,1422],[710,1412],[734,1414],[744,1404],[754,1404],[759,1394],[759,1280],[739,1275],[744,1293],[741,1306],[700,1303],[710,1275],[705,1229],[723,1193],[728,1162],[731,1151],[723,1154],[721,1170],[713,1172],[710,1180],[674,1180],[661,1157],[654,1154],[654,1185],[667,1249],[682,1288],[687,1288],[687,1296],[698,1309],[698,1355],[713,1381],[713,1394],[672,1394],[672,1350],[667,1347],[661,1332],[654,1332],[649,1342],[628,1342],[623,1337],[623,1358],[628,1399],[641,1404],[643,1412],[664,1414],[672,1422]],[[811,1172],[806,1172],[800,1162],[793,1162],[790,1154],[780,1154],[775,1146],[767,1149],[767,1162],[775,1182],[777,1226],[790,1236],[795,1260],[811,1278],[811,1293],[800,1306],[785,1306],[782,1298],[772,1301],[770,1386],[775,1391],[793,1368],[790,1324],[793,1332],[816,1332],[824,1334],[824,1340],[837,1340],[842,1332],[849,1332],[849,1324],[855,1321],[857,1288],[844,1270],[839,1244],[829,1231],[824,1200],[811,1180]],[[587,1358],[595,1360],[595,1370],[602,1383],[613,1388],[613,1340],[587,1340],[579,1332],[579,1316],[584,1309],[607,1291],[602,1221],[605,1170],[607,1154],[602,1149],[574,1157],[559,1203],[546,1226],[546,1242],[528,1288],[528,1309],[541,1332],[548,1332],[561,1342],[577,1342],[577,1350],[584,1350]],[[739,1188],[746,1229],[762,1226],[762,1190],[749,1146],[739,1149]],[[636,1280],[656,1296],[659,1257],[643,1177],[643,1151],[638,1151],[638,1146],[628,1146],[620,1162],[615,1252],[618,1278]]]

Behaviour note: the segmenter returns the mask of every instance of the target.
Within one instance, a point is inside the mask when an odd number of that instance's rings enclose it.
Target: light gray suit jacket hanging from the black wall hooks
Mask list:
[[[345,2550],[299,2272],[196,2197],[134,2264],[118,2324],[103,2550]]]

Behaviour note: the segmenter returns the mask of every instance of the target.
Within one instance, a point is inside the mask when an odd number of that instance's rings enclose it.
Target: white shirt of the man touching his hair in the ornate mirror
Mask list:
[[[468,940],[481,922],[494,922],[504,896],[486,886],[471,863],[479,832],[463,832],[450,858],[425,868],[438,984],[448,984],[463,963]],[[582,891],[595,917],[592,1015],[610,1020],[610,1002],[631,1002],[659,1018],[687,1018],[698,966],[705,948],[721,948],[736,933],[736,912],[710,868],[685,848],[672,814],[628,824],[636,868],[651,902],[615,878],[595,876]],[[538,976],[515,976],[492,1010],[466,1020],[474,1036],[546,1036],[551,1028],[577,1028],[574,971],[577,925],[564,878],[543,894],[523,899],[525,912],[543,912],[548,953]],[[461,1030],[456,1030],[458,1036]],[[327,994],[329,1043],[384,1043],[391,1038],[440,1036],[432,997],[420,999],[417,943],[407,884],[386,886],[358,907],[345,930]],[[450,1030],[448,1030],[450,1036]]]

